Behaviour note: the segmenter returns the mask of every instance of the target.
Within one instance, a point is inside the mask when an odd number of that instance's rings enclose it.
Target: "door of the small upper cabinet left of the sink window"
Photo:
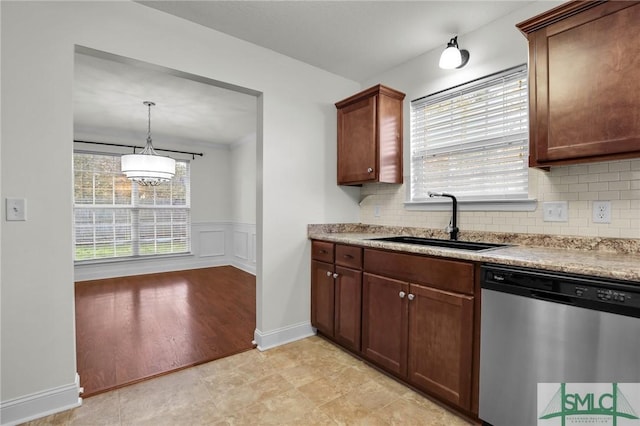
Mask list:
[[[377,179],[377,98],[369,96],[338,110],[338,184]]]

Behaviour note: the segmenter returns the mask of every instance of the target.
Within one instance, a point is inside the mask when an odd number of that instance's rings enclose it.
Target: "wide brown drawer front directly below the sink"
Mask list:
[[[468,262],[366,249],[364,270],[441,290],[473,294],[473,264]]]

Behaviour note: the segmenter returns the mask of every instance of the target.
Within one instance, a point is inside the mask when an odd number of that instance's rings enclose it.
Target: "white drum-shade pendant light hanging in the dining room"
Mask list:
[[[159,155],[151,144],[151,107],[155,103],[144,101],[149,108],[147,145],[139,154],[127,154],[120,158],[120,169],[127,178],[140,185],[156,186],[170,181],[176,173],[176,160]]]

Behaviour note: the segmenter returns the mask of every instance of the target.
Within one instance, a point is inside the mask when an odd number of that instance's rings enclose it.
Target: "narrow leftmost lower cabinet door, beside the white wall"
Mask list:
[[[311,325],[333,337],[333,265],[311,261]]]

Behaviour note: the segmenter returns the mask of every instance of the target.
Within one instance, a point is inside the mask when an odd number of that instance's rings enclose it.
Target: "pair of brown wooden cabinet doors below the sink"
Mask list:
[[[362,354],[468,410],[473,297],[368,273],[362,290]]]

